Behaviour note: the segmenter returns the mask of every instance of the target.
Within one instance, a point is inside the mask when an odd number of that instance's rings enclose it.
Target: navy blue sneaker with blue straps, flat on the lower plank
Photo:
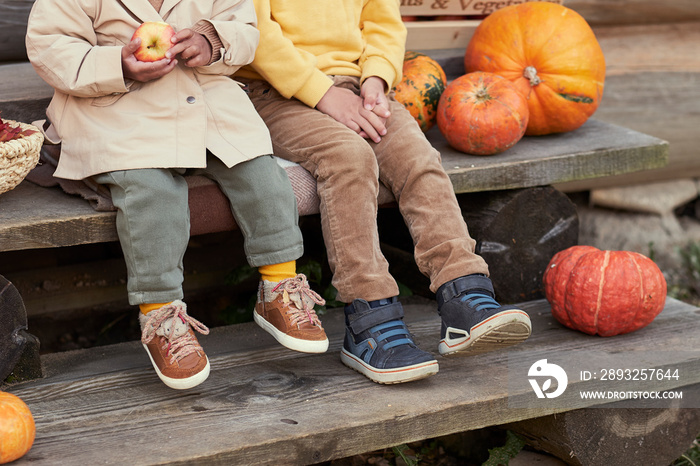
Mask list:
[[[345,306],[345,323],[340,360],[370,380],[393,384],[437,373],[437,360],[413,342],[396,298],[356,299]]]

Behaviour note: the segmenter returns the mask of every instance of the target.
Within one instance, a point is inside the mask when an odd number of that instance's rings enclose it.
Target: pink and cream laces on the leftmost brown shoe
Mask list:
[[[189,328],[193,328],[202,335],[209,334],[209,329],[197,319],[189,316],[187,314],[187,306],[182,301],[179,301],[172,302],[148,313],[148,320],[141,334],[141,341],[144,344],[150,343],[151,340],[156,337],[156,332],[163,322],[168,319],[180,319],[180,321],[188,327],[188,330]],[[192,333],[186,331],[180,336],[175,336],[175,329],[176,326],[174,324],[170,326],[168,334],[163,335],[164,343],[161,347],[165,350],[166,354],[170,355],[171,364],[174,364],[176,361],[179,361],[195,351],[203,351],[201,345]]]

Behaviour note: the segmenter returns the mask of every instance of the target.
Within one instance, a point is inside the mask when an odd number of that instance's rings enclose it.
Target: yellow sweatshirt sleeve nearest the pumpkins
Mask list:
[[[361,80],[378,76],[391,89],[401,81],[406,26],[397,0],[369,0],[362,9],[365,47],[360,57]]]

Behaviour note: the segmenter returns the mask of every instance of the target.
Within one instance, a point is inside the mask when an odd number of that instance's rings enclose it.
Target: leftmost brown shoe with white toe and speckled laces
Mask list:
[[[139,320],[141,343],[165,385],[183,390],[207,379],[209,360],[192,329],[204,335],[209,329],[187,315],[185,303],[173,301],[147,315],[140,314]]]

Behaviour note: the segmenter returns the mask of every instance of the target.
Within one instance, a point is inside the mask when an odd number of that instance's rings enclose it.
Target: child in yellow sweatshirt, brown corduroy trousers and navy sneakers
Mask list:
[[[528,338],[528,315],[494,299],[440,154],[389,93],[401,80],[406,38],[398,0],[254,3],[261,42],[235,78],[270,129],[275,155],[316,178],[333,284],[346,303],[341,360],[378,383],[438,371],[403,322],[379,248],[380,183],[394,194],[436,293],[440,354]]]

